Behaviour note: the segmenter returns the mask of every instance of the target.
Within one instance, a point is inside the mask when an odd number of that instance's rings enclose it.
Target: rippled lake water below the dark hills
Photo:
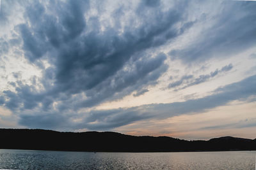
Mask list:
[[[0,169],[255,169],[255,151],[106,153],[0,150]]]

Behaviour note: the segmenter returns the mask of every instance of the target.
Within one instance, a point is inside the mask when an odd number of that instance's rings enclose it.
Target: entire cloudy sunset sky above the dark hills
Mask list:
[[[1,0],[0,127],[255,139],[255,9]]]

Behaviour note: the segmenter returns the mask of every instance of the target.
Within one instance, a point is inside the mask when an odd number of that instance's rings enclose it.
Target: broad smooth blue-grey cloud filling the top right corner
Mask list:
[[[215,22],[211,28],[203,29],[189,46],[172,50],[170,56],[185,63],[202,62],[211,57],[229,57],[254,46],[255,8],[255,1],[223,1],[220,13],[207,18]]]

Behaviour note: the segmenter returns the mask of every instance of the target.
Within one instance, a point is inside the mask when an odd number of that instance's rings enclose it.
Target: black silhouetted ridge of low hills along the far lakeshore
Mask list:
[[[87,152],[192,152],[256,150],[256,139],[214,138],[186,141],[170,137],[130,136],[116,132],[57,132],[0,129],[0,148]]]

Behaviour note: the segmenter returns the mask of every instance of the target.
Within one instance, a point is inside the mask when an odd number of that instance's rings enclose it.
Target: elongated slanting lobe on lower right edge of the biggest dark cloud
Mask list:
[[[154,85],[157,78],[167,69],[163,63],[165,59],[166,56],[160,53],[154,59],[132,62],[133,67],[130,67],[130,71],[118,71],[113,78],[88,90],[86,93],[88,99],[76,106],[90,107],[105,99],[120,99],[134,90]]]

